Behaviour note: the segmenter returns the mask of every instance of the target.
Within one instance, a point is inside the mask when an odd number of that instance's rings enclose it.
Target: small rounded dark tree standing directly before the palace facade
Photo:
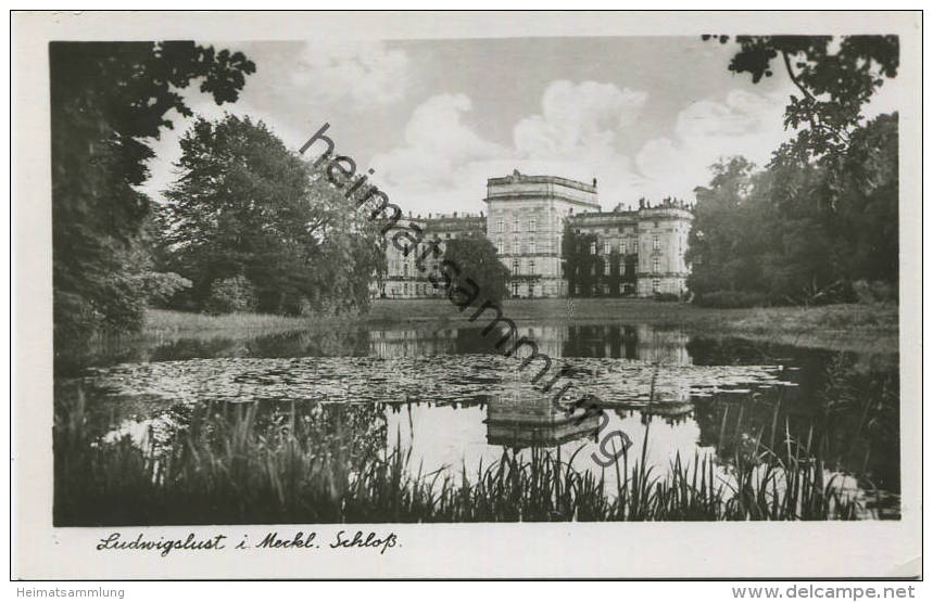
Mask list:
[[[452,285],[471,293],[479,291],[481,302],[501,302],[505,298],[508,269],[502,265],[495,246],[486,236],[465,236],[445,241],[444,260],[456,266],[451,272]],[[472,286],[467,280],[476,283]]]

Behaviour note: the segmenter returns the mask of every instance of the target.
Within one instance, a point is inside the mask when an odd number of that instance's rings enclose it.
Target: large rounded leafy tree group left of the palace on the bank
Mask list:
[[[161,221],[166,267],[193,282],[187,308],[242,309],[215,303],[232,282],[264,312],[366,308],[384,261],[378,223],[262,121],[199,119],[177,167]]]

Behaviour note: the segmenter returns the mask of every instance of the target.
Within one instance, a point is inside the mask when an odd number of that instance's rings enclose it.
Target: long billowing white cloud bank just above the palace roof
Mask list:
[[[438,94],[418,105],[404,143],[373,159],[374,181],[406,210],[481,210],[486,180],[519,169],[589,182],[597,180],[605,209],[635,206],[642,196],[693,201],[719,157],[741,154],[764,165],[787,138],[783,94],[742,90],[680,111],[666,136],[626,148],[650,111],[645,92],[612,84],[553,81],[541,113],[518,119],[513,139],[495,143],[471,127],[465,94]]]

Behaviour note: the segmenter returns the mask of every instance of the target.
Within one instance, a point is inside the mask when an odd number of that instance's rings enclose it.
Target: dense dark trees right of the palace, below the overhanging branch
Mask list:
[[[857,281],[896,290],[897,148],[895,113],[855,130],[832,166],[714,166],[696,189],[690,289],[701,300],[733,291],[774,304],[853,300]]]

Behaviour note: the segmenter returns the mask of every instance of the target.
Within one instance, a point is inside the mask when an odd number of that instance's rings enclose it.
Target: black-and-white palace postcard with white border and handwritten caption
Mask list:
[[[15,328],[49,345],[13,406],[45,459],[13,482],[73,553],[352,550],[373,577],[416,528],[392,575],[550,578],[436,566],[431,534],[807,550],[845,522],[906,564],[799,576],[920,575],[919,13],[227,16],[34,44],[48,197],[13,189],[45,262],[14,297],[46,293]],[[549,34],[576,17],[625,26]],[[915,534],[859,535],[886,525]]]

